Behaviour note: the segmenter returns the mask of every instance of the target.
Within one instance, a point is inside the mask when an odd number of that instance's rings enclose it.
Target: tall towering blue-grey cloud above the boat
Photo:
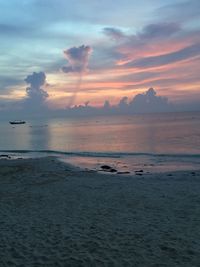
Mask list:
[[[44,108],[48,93],[41,88],[46,85],[46,75],[44,72],[33,72],[24,80],[30,87],[26,88],[26,98],[23,101],[23,107],[28,109]]]

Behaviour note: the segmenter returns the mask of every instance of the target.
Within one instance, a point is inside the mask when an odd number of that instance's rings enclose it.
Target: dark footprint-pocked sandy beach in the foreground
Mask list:
[[[0,266],[200,266],[200,171],[0,160]]]

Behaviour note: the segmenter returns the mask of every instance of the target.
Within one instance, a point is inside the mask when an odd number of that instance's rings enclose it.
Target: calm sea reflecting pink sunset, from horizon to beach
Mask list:
[[[13,155],[19,154],[16,150],[51,151],[90,167],[94,163],[111,163],[120,169],[140,163],[161,168],[170,163],[175,169],[198,166],[200,113],[30,120],[14,127],[1,121],[0,150]]]

